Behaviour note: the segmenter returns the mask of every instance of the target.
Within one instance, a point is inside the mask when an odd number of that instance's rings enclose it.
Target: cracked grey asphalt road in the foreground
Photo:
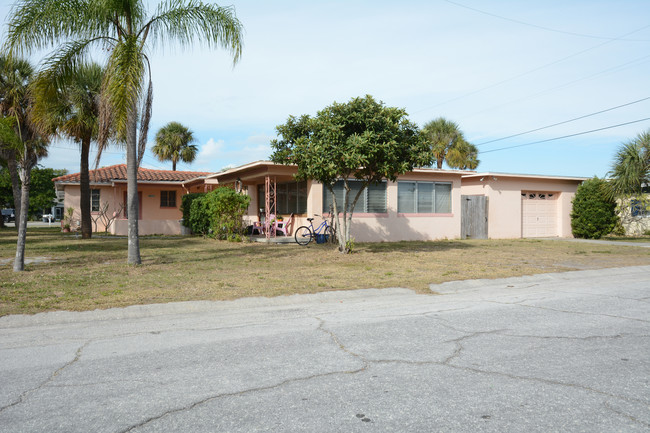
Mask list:
[[[647,432],[650,266],[0,318],[2,432]]]

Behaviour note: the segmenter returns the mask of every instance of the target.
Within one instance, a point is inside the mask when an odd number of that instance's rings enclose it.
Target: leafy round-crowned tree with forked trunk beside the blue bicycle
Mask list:
[[[313,179],[332,195],[339,251],[349,253],[354,207],[364,189],[416,166],[431,164],[431,151],[404,110],[386,107],[372,96],[334,103],[316,117],[289,117],[276,127],[280,138],[271,142],[271,160],[298,166],[298,180]],[[353,197],[349,181],[361,181]],[[334,184],[343,180],[344,203],[336,201]],[[342,213],[342,218],[339,215]]]

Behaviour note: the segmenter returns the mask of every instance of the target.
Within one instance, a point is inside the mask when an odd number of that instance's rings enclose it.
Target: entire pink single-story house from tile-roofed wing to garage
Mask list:
[[[118,171],[119,176],[115,174]],[[245,215],[250,225],[266,214],[285,218],[293,214],[292,228],[307,224],[308,217],[327,216],[331,205],[327,189],[312,180],[297,182],[296,172],[295,166],[269,161],[214,174],[140,169],[140,233],[181,233],[179,195],[210,191],[218,186],[230,186],[251,197]],[[126,194],[125,166],[93,170],[91,179],[91,188],[100,190],[93,194],[101,194],[93,199],[93,209],[97,209],[97,200],[106,200],[111,208],[122,206]],[[352,236],[359,242],[568,237],[571,200],[584,180],[418,168],[399,176],[396,182],[384,181],[363,193],[354,211]],[[78,208],[78,174],[54,181],[57,190],[65,189],[65,207]],[[352,187],[355,189],[354,181]],[[342,182],[335,184],[334,189],[340,204]],[[170,206],[168,200],[173,191],[175,202]],[[125,234],[126,230],[122,212],[110,231]]]

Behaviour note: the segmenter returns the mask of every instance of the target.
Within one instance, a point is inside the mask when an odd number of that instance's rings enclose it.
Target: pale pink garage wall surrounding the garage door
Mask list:
[[[572,237],[572,200],[578,181],[552,178],[499,177],[486,175],[463,179],[463,195],[488,197],[488,236],[493,239],[522,237],[522,191],[552,192],[557,194],[556,236]],[[496,178],[496,180],[494,179]]]

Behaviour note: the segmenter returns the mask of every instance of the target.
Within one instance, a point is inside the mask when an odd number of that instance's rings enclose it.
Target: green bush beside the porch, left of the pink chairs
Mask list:
[[[191,199],[189,228],[204,236],[240,241],[250,197],[231,188],[217,188]]]

